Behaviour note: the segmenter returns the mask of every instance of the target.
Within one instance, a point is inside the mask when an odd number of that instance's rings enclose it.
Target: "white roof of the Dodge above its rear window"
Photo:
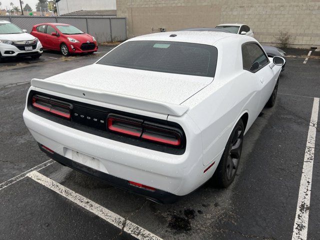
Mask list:
[[[175,35],[175,36],[170,36]],[[166,31],[166,32],[157,32],[141,36],[136,36],[128,39],[128,41],[134,40],[149,40],[149,41],[181,41],[181,42],[190,42],[190,43],[199,43],[214,45],[214,43],[223,38],[239,37],[238,34],[220,32],[220,31]],[[241,37],[245,37],[241,35]],[[250,39],[252,37],[249,37]]]

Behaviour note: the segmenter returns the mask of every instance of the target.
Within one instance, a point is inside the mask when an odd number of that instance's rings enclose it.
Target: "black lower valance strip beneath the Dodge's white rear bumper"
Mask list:
[[[67,157],[64,157],[60,154],[57,154],[56,152],[50,153],[50,152],[46,151],[45,149],[43,149],[41,147],[40,143],[38,143],[38,145],[39,145],[39,148],[41,151],[43,151],[50,158],[61,163],[62,165],[68,166],[68,167],[75,169],[79,172],[82,172],[84,174],[93,176],[93,177],[95,177],[99,180],[102,180],[108,184],[111,184],[113,186],[120,187],[122,189],[128,190],[128,191],[133,192],[135,194],[144,196],[152,201],[155,201],[158,203],[164,203],[164,204],[165,203],[173,203],[181,197],[181,196],[174,195],[172,193],[162,191],[159,189],[155,189],[154,191],[150,191],[150,190],[145,190],[143,188],[132,186],[125,179],[122,179],[122,178],[119,178],[116,176],[112,176],[112,175],[107,174],[105,172],[88,167],[86,165],[83,165],[81,163],[73,161]]]

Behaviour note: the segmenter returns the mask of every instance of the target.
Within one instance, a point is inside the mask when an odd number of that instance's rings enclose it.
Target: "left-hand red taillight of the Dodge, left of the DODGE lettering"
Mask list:
[[[62,116],[64,118],[71,118],[72,104],[64,101],[60,101],[48,96],[33,95],[32,106],[35,108],[51,112],[55,115]]]

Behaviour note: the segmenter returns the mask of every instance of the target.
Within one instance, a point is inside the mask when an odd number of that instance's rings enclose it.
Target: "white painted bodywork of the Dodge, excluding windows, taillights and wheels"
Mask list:
[[[259,43],[231,33],[163,32],[125,42],[154,40],[213,45],[218,52],[214,78],[94,63],[46,79],[32,79],[23,118],[37,142],[65,159],[182,196],[212,176],[231,130],[244,114],[248,116],[245,132],[248,130],[270,97],[281,66],[269,61],[255,73],[244,70],[241,44]],[[182,154],[161,152],[46,119],[30,106],[32,91],[177,123],[185,133],[185,150]]]

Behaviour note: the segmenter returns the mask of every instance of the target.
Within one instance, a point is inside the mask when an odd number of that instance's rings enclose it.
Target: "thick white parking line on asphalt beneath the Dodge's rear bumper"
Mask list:
[[[160,237],[154,235],[148,230],[134,224],[133,222],[123,218],[122,216],[106,209],[105,207],[95,203],[94,201],[72,191],[71,189],[53,181],[52,179],[40,174],[37,171],[31,171],[27,174],[28,177],[35,180],[36,182],[46,186],[47,188],[59,193],[65,198],[71,200],[79,206],[82,206],[86,210],[92,212],[93,214],[101,217],[107,222],[113,224],[114,226],[122,229],[123,231],[129,233],[130,235],[136,237],[140,240],[162,240]]]

